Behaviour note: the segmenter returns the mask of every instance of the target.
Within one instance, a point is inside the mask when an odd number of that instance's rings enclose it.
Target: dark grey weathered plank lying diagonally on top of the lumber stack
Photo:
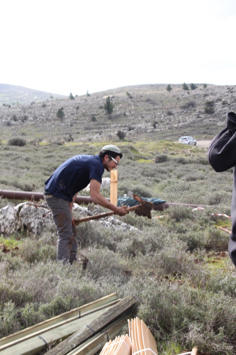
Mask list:
[[[53,349],[49,350],[47,355],[65,355],[69,353],[69,351],[75,349],[76,346],[85,342],[101,329],[108,326],[113,320],[116,320],[126,312],[128,313],[135,303],[136,301],[131,296],[125,297],[117,302],[116,305],[111,306],[110,309],[105,311],[102,316],[97,317],[89,324],[87,323],[87,325],[80,331],[71,335]]]

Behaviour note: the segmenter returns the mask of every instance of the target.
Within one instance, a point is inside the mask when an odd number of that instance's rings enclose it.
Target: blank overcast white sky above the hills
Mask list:
[[[236,84],[236,0],[1,2],[0,83],[75,96]]]

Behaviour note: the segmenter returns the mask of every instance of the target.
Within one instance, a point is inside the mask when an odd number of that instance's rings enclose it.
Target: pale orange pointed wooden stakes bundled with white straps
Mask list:
[[[128,320],[129,335],[121,335],[107,342],[100,355],[157,355],[156,340],[138,317]]]

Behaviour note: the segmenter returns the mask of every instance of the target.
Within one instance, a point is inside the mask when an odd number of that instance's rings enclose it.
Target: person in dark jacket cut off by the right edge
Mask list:
[[[236,266],[236,114],[226,114],[226,127],[211,141],[207,157],[212,168],[225,171],[234,166],[233,193],[231,202],[232,232],[229,240],[229,256]]]

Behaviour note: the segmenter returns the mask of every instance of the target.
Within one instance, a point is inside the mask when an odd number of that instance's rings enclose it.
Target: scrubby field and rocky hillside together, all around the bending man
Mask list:
[[[63,266],[56,262],[57,232],[46,223],[44,201],[30,201],[24,214],[25,204],[0,198],[0,338],[117,293],[136,300],[133,316],[148,325],[159,355],[194,346],[199,355],[236,354],[236,269],[228,255],[233,169],[216,173],[201,146],[235,109],[234,90],[197,84],[188,92],[179,84],[168,92],[166,85],[142,85],[0,106],[2,190],[43,192],[66,159],[97,154],[110,140],[123,153],[117,195],[133,191],[173,203],[152,210],[150,219],[131,212],[80,223],[79,262]],[[108,95],[111,117],[104,110]],[[119,140],[118,130],[125,139]],[[177,143],[186,133],[195,136],[196,146]],[[16,136],[27,144],[7,143]],[[105,170],[103,177],[110,173]],[[101,193],[110,197],[110,186]],[[85,217],[85,206],[74,207],[76,219]],[[108,212],[94,204],[86,211]],[[45,218],[41,232],[39,215]],[[38,335],[29,342],[42,343],[39,354],[53,350],[56,340],[42,337],[50,341],[46,347]]]

